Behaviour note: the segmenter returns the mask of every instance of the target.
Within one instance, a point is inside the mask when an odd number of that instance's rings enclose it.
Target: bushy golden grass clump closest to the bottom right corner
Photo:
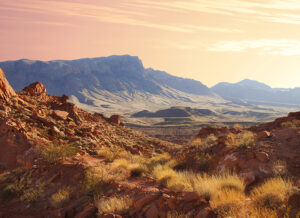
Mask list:
[[[281,177],[272,178],[251,191],[251,198],[257,208],[275,209],[280,207],[294,191],[291,181]]]

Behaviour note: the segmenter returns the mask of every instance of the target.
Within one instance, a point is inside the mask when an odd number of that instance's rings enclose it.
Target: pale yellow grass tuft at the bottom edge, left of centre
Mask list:
[[[133,200],[129,196],[117,196],[111,197],[106,200],[100,200],[96,205],[98,213],[109,214],[109,213],[120,213],[128,210],[133,205]]]

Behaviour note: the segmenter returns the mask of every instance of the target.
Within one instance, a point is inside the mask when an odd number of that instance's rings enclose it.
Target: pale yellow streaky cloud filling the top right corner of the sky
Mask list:
[[[300,24],[299,0],[176,0],[171,2],[169,0],[135,0],[134,4],[164,11],[177,10],[231,16],[237,20],[245,20],[242,19],[243,16],[251,16],[251,19],[256,22]],[[288,15],[285,14],[287,11]]]

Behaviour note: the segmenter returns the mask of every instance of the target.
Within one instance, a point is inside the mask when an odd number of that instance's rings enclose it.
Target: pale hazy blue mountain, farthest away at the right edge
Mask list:
[[[255,80],[245,79],[238,83],[219,83],[211,88],[227,100],[266,104],[300,104],[300,88],[274,89]]]

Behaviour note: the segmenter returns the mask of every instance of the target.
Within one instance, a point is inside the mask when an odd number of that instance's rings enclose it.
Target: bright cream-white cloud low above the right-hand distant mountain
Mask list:
[[[242,41],[219,41],[207,48],[212,52],[253,51],[259,55],[300,55],[300,40],[260,39]]]

